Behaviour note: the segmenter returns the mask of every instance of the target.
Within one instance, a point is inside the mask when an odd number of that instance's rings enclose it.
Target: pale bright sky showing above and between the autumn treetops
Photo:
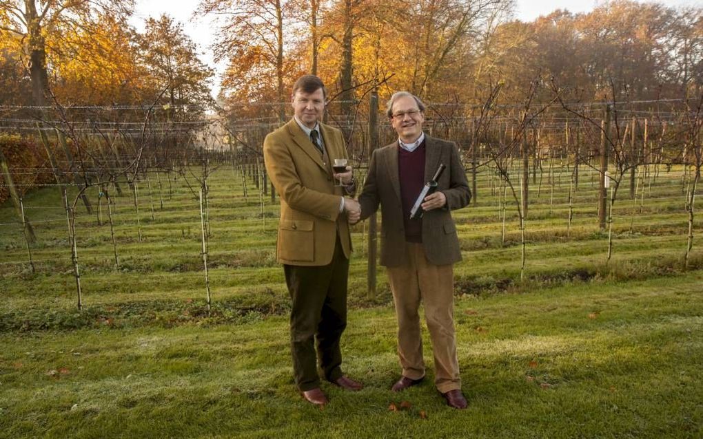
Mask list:
[[[639,0],[638,0],[639,1]],[[200,59],[207,65],[215,68],[217,78],[214,80],[212,90],[213,96],[219,92],[219,74],[224,72],[225,63],[215,63],[212,49],[209,45],[213,43],[216,26],[210,17],[193,17],[193,11],[198,7],[197,0],[174,1],[174,0],[136,0],[136,13],[132,16],[131,25],[137,30],[144,30],[146,18],[158,18],[166,13],[174,20],[183,24],[183,30],[198,45],[201,53]],[[568,9],[573,13],[591,11],[596,5],[602,3],[601,0],[516,0],[515,18],[522,21],[531,21],[540,15],[546,15],[555,9]],[[659,0],[666,6],[703,6],[703,0]],[[174,8],[175,5],[177,8]]]

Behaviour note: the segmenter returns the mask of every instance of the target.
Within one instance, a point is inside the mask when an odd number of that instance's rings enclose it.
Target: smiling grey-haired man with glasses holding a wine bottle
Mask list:
[[[456,145],[423,133],[425,105],[406,91],[394,93],[387,116],[398,140],[371,155],[359,196],[361,219],[382,204],[381,265],[386,266],[398,320],[402,367],[392,391],[403,391],[425,377],[420,334],[420,302],[430,329],[434,385],[449,406],[464,409],[453,323],[453,263],[461,260],[456,226],[449,213],[467,206],[471,192]],[[440,164],[446,171],[437,191],[421,204],[425,214],[411,219],[423,186]]]

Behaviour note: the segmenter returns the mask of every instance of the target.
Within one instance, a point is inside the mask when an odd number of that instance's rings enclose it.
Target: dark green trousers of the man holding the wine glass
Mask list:
[[[328,265],[284,265],[283,270],[292,299],[290,346],[295,384],[300,391],[309,391],[320,386],[317,360],[328,381],[342,376],[340,339],[347,327],[349,259],[337,238]]]

